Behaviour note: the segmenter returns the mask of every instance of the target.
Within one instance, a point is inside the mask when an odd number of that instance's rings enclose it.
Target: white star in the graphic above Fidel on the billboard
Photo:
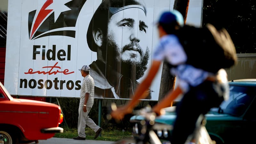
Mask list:
[[[64,5],[70,1],[72,0],[53,0],[52,4],[50,4],[45,10],[53,10],[54,22],[56,22],[61,12],[71,10],[66,5]]]

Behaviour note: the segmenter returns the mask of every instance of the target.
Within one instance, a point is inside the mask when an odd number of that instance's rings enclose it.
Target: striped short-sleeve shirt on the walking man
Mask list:
[[[84,106],[85,93],[89,93],[89,98],[86,103],[86,107],[92,108],[94,102],[94,80],[90,75],[87,75],[83,79],[80,91],[80,104],[79,107]]]

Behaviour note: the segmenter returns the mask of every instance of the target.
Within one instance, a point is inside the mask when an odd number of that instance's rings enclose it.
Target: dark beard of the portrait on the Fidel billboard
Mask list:
[[[107,44],[107,48],[108,49],[108,53],[107,55],[107,63],[110,64],[112,63],[112,66],[115,66],[114,64],[120,60],[117,60],[117,58],[120,58],[120,51],[123,51],[123,49],[125,49],[125,47],[129,47],[132,45],[128,44],[125,45],[122,50],[119,50],[117,48],[117,44],[111,39],[111,36],[108,36],[108,44]],[[104,48],[104,47],[103,47]],[[147,47],[146,51],[143,52],[141,50],[141,48],[139,47],[139,52],[138,54],[140,54],[140,61],[134,61],[134,60],[122,60],[121,61],[121,74],[125,77],[131,77],[132,75],[132,71],[134,71],[134,68],[136,68],[136,80],[140,79],[143,75],[144,72],[147,70],[147,64],[148,64],[148,59],[149,59],[149,49]],[[112,59],[112,60],[109,60]],[[110,62],[110,63],[109,63]],[[119,68],[116,68],[119,69]]]

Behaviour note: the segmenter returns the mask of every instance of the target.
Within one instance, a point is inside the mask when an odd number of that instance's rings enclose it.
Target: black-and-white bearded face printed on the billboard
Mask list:
[[[116,61],[140,64],[148,55],[146,15],[139,8],[117,12],[108,22],[107,49],[116,51]]]

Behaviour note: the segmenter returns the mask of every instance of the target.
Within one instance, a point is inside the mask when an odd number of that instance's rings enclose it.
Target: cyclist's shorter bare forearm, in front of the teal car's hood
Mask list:
[[[166,108],[166,107],[170,107],[171,102],[173,100],[175,100],[180,94],[182,93],[181,88],[178,86],[174,91],[170,91],[163,100],[161,100],[160,102],[158,102],[158,104],[156,106],[153,107],[153,111],[158,114],[161,115],[161,109],[162,108]]]

